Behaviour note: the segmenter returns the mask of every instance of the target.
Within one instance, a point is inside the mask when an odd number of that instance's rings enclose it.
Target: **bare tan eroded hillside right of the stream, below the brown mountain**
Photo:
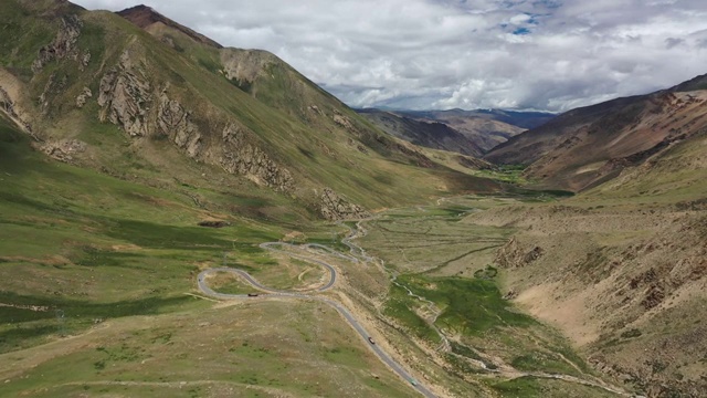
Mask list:
[[[597,370],[650,397],[699,397],[707,211],[693,205],[517,207],[465,221],[518,229],[496,254],[507,291]]]

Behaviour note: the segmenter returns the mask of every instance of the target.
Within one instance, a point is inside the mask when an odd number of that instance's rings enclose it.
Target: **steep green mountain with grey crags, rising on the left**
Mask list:
[[[8,0],[2,11],[2,108],[57,159],[150,185],[229,179],[331,219],[496,189],[378,130],[274,55],[223,49],[149,8]]]

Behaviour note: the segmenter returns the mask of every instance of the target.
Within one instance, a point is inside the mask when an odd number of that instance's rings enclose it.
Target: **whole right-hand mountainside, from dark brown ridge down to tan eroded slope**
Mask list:
[[[578,108],[486,158],[529,165],[560,203],[474,214],[513,226],[497,253],[515,302],[592,367],[647,397],[699,397],[707,349],[707,75]]]

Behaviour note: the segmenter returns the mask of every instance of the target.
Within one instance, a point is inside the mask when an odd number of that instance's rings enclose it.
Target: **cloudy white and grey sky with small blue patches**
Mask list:
[[[567,111],[707,73],[705,0],[143,1],[351,106]]]

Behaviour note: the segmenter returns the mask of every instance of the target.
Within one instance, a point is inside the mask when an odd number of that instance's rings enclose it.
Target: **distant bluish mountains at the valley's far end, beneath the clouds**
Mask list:
[[[443,123],[465,135],[484,153],[555,117],[553,114],[542,112],[502,109],[400,111],[397,113],[418,121]]]

